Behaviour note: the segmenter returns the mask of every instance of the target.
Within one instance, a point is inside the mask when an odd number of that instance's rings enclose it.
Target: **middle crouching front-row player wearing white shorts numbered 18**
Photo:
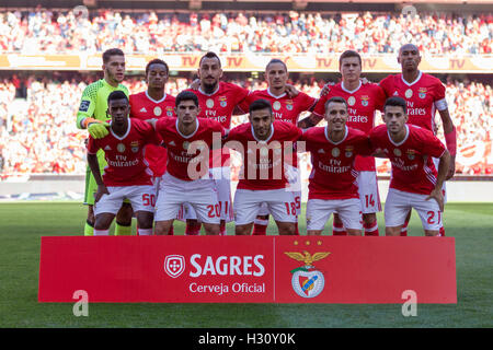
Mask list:
[[[296,202],[293,192],[287,190],[284,167],[293,163],[294,142],[302,131],[291,122],[274,120],[266,100],[254,101],[249,110],[250,122],[233,128],[226,139],[226,147],[243,155],[234,194],[236,234],[251,234],[263,202],[267,203],[279,234],[296,234]]]

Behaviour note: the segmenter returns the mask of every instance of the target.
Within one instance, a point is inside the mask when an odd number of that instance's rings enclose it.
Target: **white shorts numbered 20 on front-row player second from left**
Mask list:
[[[213,179],[185,182],[168,173],[162,176],[159,187],[154,221],[176,219],[185,202],[192,206],[202,222],[219,223],[219,203]]]

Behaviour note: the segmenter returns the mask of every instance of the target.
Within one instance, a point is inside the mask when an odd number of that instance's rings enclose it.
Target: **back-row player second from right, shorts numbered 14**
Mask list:
[[[382,108],[386,95],[377,84],[362,82],[362,57],[358,52],[344,51],[339,58],[339,67],[342,81],[331,86],[329,93],[320,97],[313,110],[314,121],[325,114],[328,100],[341,96],[346,100],[348,105],[347,126],[369,135],[375,127],[376,112]],[[357,155],[355,171],[358,172],[357,184],[363,208],[365,235],[378,236],[377,212],[381,211],[381,205],[375,158]],[[336,213],[333,220],[333,234],[346,234]]]

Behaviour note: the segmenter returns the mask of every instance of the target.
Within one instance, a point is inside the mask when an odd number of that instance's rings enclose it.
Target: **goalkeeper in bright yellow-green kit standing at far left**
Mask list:
[[[123,91],[128,96],[128,89],[121,84],[125,78],[125,55],[118,48],[112,48],[103,52],[103,71],[104,78],[88,85],[82,92],[82,98],[77,113],[77,127],[79,129],[90,129],[96,127],[94,136],[104,136],[107,133],[106,128],[102,128],[103,135],[98,132],[98,124],[103,124],[108,118],[107,97],[113,91]],[[104,151],[98,153],[100,170],[103,171],[106,165],[104,160]],[[92,235],[94,228],[94,194],[96,191],[96,183],[91,170],[88,166],[85,173],[85,194],[84,205],[88,206],[88,219],[84,226],[84,235]],[[122,206],[116,214],[115,235],[131,234],[131,206],[126,202]]]

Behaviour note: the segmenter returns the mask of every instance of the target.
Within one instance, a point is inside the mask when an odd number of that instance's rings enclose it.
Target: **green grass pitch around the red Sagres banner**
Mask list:
[[[305,207],[303,207],[305,209]],[[305,212],[305,211],[303,211]],[[419,304],[89,304],[76,317],[70,303],[38,303],[39,244],[44,235],[80,235],[85,208],[78,202],[0,203],[0,327],[492,327],[493,203],[448,203],[446,234],[456,237],[457,305]],[[378,217],[380,234],[383,217]],[[329,228],[330,223],[326,228]],[[228,225],[232,234],[233,225]],[[305,218],[300,218],[305,232]],[[183,225],[175,226],[182,234]],[[271,223],[270,234],[275,233]],[[422,235],[413,212],[410,235]]]

